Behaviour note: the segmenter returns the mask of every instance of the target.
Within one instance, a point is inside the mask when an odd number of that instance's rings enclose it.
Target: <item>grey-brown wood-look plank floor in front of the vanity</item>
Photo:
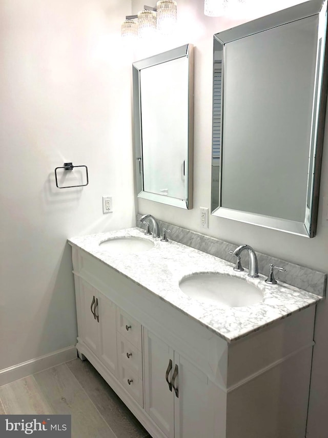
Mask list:
[[[88,360],[0,386],[0,414],[71,414],[72,438],[151,438]]]

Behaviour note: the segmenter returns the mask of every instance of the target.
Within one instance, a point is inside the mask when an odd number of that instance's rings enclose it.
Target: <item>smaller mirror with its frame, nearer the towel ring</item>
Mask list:
[[[133,63],[136,191],[139,198],[193,206],[193,47]]]

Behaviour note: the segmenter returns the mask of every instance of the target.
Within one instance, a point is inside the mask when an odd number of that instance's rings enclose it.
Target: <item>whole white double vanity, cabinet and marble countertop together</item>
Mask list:
[[[305,436],[322,297],[251,279],[232,263],[139,228],[69,243],[79,357],[153,438]],[[196,273],[234,277],[261,299],[229,307],[201,292],[188,296],[179,283]]]

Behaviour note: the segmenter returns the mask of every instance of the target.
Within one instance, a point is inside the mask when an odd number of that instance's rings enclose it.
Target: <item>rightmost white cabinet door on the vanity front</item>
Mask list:
[[[178,374],[174,386],[175,438],[213,438],[214,406],[211,386],[206,374],[183,356],[174,353]]]

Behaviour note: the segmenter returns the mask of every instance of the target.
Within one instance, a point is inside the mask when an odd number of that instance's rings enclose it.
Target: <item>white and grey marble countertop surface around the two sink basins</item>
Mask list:
[[[172,240],[161,242],[160,239],[153,239],[152,236],[145,236],[144,233],[143,230],[135,227],[72,237],[68,242],[158,295],[228,342],[256,332],[322,299],[318,295],[280,281],[277,285],[267,284],[264,282],[266,277],[261,274],[258,278],[250,278],[247,276],[247,269],[244,272],[235,272],[234,264],[226,260]],[[154,247],[139,253],[120,254],[113,250],[108,251],[105,245],[99,245],[107,239],[124,236],[150,240],[154,242]],[[242,278],[254,284],[263,293],[263,299],[252,306],[230,308],[222,307],[214,301],[203,302],[190,298],[180,290],[179,281],[183,277],[199,272],[220,272]]]

